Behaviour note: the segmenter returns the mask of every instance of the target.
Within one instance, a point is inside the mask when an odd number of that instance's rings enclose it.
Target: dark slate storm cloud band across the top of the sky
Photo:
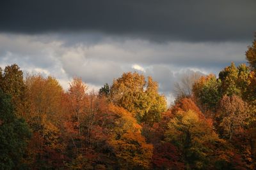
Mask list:
[[[103,32],[156,41],[251,41],[256,1],[1,1],[0,31]]]

